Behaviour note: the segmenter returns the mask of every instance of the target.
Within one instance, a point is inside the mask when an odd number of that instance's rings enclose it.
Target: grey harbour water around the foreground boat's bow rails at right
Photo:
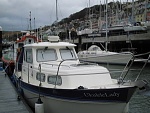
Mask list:
[[[136,64],[131,67],[132,71],[128,73],[127,79],[135,80],[137,74],[142,68],[142,64]],[[123,66],[109,66],[109,69],[123,69]],[[112,74],[114,78],[117,78],[119,74]],[[147,65],[142,71],[138,80],[147,80],[150,86],[150,65]],[[132,96],[129,104],[129,113],[150,113],[150,89],[137,90]]]

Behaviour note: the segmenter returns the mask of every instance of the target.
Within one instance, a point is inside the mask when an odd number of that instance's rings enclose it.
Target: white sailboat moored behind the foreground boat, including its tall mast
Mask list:
[[[107,14],[107,1],[106,1],[106,23],[105,26],[105,50],[102,51],[100,47],[92,45],[88,50],[83,50],[78,52],[78,57],[80,61],[84,62],[96,62],[96,63],[106,63],[106,64],[123,64],[126,65],[133,58],[132,53],[130,52],[109,52],[107,49],[108,46],[108,34],[113,33],[114,31],[122,31],[123,25],[111,25],[108,27],[108,14]]]

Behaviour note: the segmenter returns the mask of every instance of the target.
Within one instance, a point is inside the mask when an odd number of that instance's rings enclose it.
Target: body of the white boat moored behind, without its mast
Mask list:
[[[79,51],[78,57],[80,61],[85,62],[126,65],[133,58],[133,54],[131,52],[103,51],[97,45],[92,45],[88,50]]]

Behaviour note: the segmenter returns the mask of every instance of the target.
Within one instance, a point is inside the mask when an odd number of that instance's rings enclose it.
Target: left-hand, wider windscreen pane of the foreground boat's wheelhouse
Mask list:
[[[38,62],[57,60],[56,51],[54,49],[38,49],[36,57]]]

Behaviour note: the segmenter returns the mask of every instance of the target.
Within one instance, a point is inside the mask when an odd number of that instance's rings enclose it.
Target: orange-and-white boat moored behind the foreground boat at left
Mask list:
[[[8,49],[3,51],[2,62],[7,75],[11,76],[13,74],[21,48],[25,44],[35,43],[37,41],[40,40],[38,40],[36,36],[30,35],[29,32],[26,32],[25,35],[18,38]]]

